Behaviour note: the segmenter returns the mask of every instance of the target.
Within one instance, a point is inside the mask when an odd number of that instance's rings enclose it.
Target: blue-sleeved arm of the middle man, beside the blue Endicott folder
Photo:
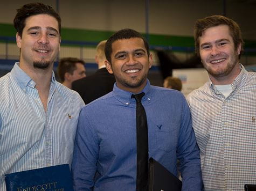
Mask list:
[[[72,175],[74,190],[92,190],[99,146],[95,133],[86,117],[85,107],[81,110],[77,135],[74,143]]]

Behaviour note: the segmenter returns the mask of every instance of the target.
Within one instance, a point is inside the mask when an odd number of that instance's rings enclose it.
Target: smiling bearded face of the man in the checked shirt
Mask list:
[[[237,49],[229,32],[229,26],[207,28],[199,37],[199,51],[204,68],[216,85],[231,84],[240,73]]]

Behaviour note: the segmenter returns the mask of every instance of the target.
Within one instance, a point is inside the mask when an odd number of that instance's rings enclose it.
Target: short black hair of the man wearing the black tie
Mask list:
[[[149,56],[149,45],[147,40],[137,31],[132,30],[130,28],[124,28],[120,31],[117,31],[115,34],[109,37],[105,46],[105,55],[108,62],[111,63],[111,54],[112,54],[112,44],[121,39],[132,39],[132,38],[140,38],[144,42],[144,46],[147,50]]]

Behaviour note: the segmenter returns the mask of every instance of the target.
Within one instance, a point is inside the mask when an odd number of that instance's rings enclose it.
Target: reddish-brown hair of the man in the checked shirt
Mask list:
[[[194,36],[195,36],[195,47],[196,53],[200,56],[200,45],[199,45],[199,37],[202,36],[203,32],[210,27],[219,26],[219,25],[227,25],[229,27],[230,35],[234,41],[234,48],[237,49],[239,44],[241,43],[241,53],[244,52],[244,40],[242,38],[242,33],[239,25],[230,18],[213,15],[210,17],[205,17],[203,19],[198,19],[195,23],[194,27]],[[240,54],[241,55],[241,54]],[[240,58],[239,55],[239,58]]]

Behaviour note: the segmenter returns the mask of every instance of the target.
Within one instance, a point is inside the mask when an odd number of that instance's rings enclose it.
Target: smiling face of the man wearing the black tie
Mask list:
[[[143,90],[152,65],[152,55],[147,54],[141,38],[114,41],[111,61],[105,63],[109,73],[114,74],[117,87],[133,93]]]

